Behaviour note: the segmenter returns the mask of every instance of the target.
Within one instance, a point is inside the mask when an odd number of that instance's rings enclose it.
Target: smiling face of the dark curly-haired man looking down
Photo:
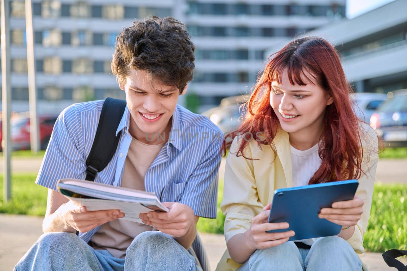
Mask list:
[[[142,140],[146,134],[171,130],[170,119],[177,107],[179,89],[163,85],[147,72],[135,69],[130,69],[119,85],[126,92],[131,115],[129,130],[133,137]],[[185,93],[186,87],[182,95]]]

